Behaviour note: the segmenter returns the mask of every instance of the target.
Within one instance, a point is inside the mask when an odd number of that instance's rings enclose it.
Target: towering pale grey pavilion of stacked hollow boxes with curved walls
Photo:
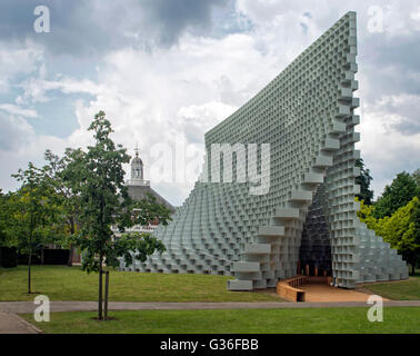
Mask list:
[[[338,287],[408,278],[396,250],[356,216],[356,13],[348,12],[206,134],[203,179],[169,226],[156,231],[168,251],[131,270],[233,275],[231,290],[274,287],[299,273],[300,258],[320,269],[330,267]],[[219,165],[214,144],[240,144],[248,154],[237,149],[231,161],[223,154]],[[233,182],[214,182],[230,164]],[[258,191],[258,181],[241,179],[250,177],[251,168],[269,172],[269,189]]]

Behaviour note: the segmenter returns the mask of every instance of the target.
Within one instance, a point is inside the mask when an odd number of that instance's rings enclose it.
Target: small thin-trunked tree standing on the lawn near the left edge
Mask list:
[[[54,222],[60,208],[53,198],[42,169],[29,162],[28,169],[12,175],[22,187],[8,199],[9,221],[6,233],[9,245],[28,255],[28,294],[31,294],[32,257],[44,244],[54,241]]]

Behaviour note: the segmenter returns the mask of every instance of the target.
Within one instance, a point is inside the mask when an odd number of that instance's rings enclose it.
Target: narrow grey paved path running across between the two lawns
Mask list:
[[[342,308],[368,307],[364,301],[328,303],[130,303],[110,301],[110,310],[194,310],[194,309],[276,309],[276,308]],[[384,300],[386,307],[420,307],[420,300]],[[33,313],[32,301],[0,301],[0,312]],[[96,301],[51,301],[51,312],[97,310]]]

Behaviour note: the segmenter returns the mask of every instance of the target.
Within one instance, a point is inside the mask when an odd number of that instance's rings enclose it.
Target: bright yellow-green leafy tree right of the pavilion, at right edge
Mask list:
[[[367,206],[361,201],[358,217],[366,222],[368,228],[381,236],[384,241],[398,250],[402,258],[412,267],[414,274],[416,265],[420,258],[420,202],[417,197],[406,206],[399,208],[392,216],[374,218],[373,206]]]

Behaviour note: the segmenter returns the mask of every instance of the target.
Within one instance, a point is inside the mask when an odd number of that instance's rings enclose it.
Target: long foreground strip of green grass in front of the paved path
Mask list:
[[[390,307],[382,323],[370,323],[368,308],[299,308],[239,310],[136,310],[111,312],[114,320],[93,320],[93,312],[52,313],[49,323],[36,323],[57,334],[377,334],[420,333],[420,308]]]

